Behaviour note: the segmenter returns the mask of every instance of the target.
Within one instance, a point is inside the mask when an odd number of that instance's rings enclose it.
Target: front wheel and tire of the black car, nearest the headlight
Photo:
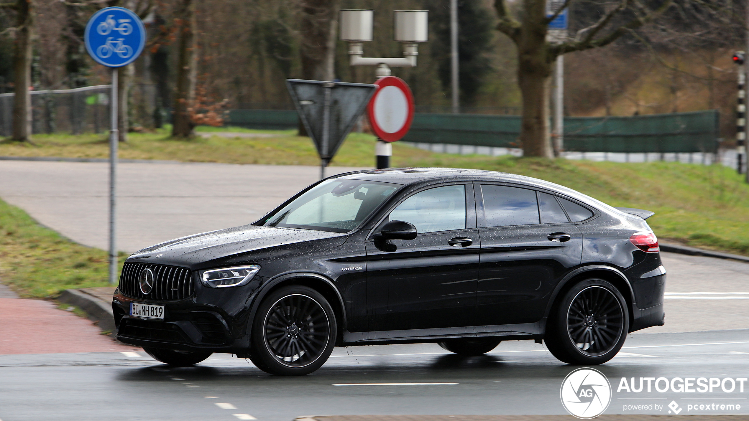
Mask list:
[[[273,375],[319,369],[336,345],[336,315],[315,289],[286,286],[271,292],[252,322],[250,360]]]

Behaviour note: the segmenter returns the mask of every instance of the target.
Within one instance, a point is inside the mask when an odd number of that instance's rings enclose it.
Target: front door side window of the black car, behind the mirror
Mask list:
[[[419,191],[393,209],[389,220],[410,222],[419,233],[464,230],[466,188],[446,185]]]

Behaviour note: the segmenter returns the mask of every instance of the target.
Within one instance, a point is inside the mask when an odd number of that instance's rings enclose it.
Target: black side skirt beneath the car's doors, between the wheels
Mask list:
[[[536,323],[518,325],[468,326],[463,328],[409,329],[404,331],[343,332],[342,346],[385,345],[395,343],[429,343],[440,339],[502,337],[503,340],[544,337],[546,318]]]

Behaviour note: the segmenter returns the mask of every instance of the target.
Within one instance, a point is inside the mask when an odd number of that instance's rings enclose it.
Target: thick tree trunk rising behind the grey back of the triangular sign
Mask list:
[[[336,79],[336,39],[338,35],[338,0],[301,0],[300,25],[302,79],[333,81]],[[306,136],[299,123],[299,135]]]

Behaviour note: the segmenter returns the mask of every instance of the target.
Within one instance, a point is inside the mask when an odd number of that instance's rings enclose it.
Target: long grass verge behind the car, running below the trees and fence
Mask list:
[[[130,133],[120,145],[124,159],[171,159],[183,162],[235,164],[318,165],[309,138],[294,130],[250,130],[198,127],[197,132],[263,132],[268,138],[210,138],[187,141],[169,138],[169,129]],[[0,142],[0,156],[64,156],[106,158],[105,135],[34,135],[34,145]],[[352,133],[342,145],[333,166],[371,167],[372,135]],[[661,239],[700,248],[749,255],[749,186],[742,176],[721,165],[687,165],[675,162],[614,163],[465,156],[431,153],[402,144],[393,145],[392,165],[397,167],[479,168],[533,176],[566,185],[610,203],[649,209],[648,222]]]

